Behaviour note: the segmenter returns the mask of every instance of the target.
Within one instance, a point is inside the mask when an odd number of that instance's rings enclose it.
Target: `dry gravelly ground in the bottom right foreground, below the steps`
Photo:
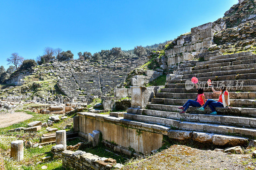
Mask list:
[[[245,170],[255,169],[252,154],[231,154],[172,145],[122,170]]]

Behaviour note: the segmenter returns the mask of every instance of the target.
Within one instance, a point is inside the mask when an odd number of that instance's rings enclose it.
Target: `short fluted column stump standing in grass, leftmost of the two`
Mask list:
[[[17,161],[23,160],[23,140],[15,140],[11,142],[11,158],[14,158]]]

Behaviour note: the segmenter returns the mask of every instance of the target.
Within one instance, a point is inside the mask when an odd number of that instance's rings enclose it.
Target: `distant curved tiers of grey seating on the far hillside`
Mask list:
[[[121,58],[114,61],[54,62],[51,66],[59,76],[58,86],[74,101],[85,101],[90,96],[103,96],[124,82],[127,73],[143,65],[147,57]]]

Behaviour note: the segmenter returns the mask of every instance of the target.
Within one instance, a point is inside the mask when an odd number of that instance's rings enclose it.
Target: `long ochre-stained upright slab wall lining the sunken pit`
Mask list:
[[[102,133],[103,142],[116,143],[115,151],[123,154],[139,156],[140,152],[149,154],[152,150],[162,146],[163,135],[167,135],[169,128],[148,123],[133,122],[123,117],[113,117],[95,113],[77,113],[79,128],[78,135],[88,139],[88,134],[93,130]],[[129,149],[130,148],[130,149]]]

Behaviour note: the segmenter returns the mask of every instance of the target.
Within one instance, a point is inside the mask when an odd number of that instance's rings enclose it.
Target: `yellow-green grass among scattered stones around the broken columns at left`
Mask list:
[[[0,151],[1,155],[4,155],[4,165],[7,170],[40,170],[43,165],[46,165],[48,170],[59,170],[62,168],[62,161],[60,159],[57,160],[49,160],[43,163],[39,163],[36,165],[37,162],[41,161],[41,158],[44,156],[51,156],[49,151],[51,151],[51,148],[53,144],[45,145],[43,148],[26,148],[24,147],[24,160],[22,162],[17,162],[8,155],[10,155],[10,146],[11,142],[13,140],[30,140],[32,143],[40,142],[40,137],[44,133],[48,133],[46,130],[46,127],[43,127],[41,130],[33,133],[24,133],[24,131],[19,131],[19,132],[8,132],[10,129],[15,129],[18,127],[25,127],[27,128],[27,124],[33,121],[42,121],[42,122],[47,122],[49,120],[49,116],[51,115],[42,115],[42,114],[36,114],[30,111],[24,111],[27,107],[33,107],[35,104],[29,104],[26,105],[26,107],[19,108],[17,111],[23,111],[26,112],[27,114],[33,115],[32,118],[15,123],[11,126],[5,127],[5,128],[0,128]],[[23,110],[24,109],[24,110]],[[63,129],[66,127],[67,124],[72,124],[72,117],[74,115],[69,115],[68,119],[61,120],[58,123],[53,123],[52,128],[58,128]],[[60,116],[61,117],[61,116]],[[69,127],[65,129],[67,131],[72,131],[72,127]],[[67,142],[68,145],[74,145],[70,142]],[[77,144],[77,143],[76,143]],[[55,145],[55,144],[54,144]],[[1,158],[1,156],[0,156]]]

